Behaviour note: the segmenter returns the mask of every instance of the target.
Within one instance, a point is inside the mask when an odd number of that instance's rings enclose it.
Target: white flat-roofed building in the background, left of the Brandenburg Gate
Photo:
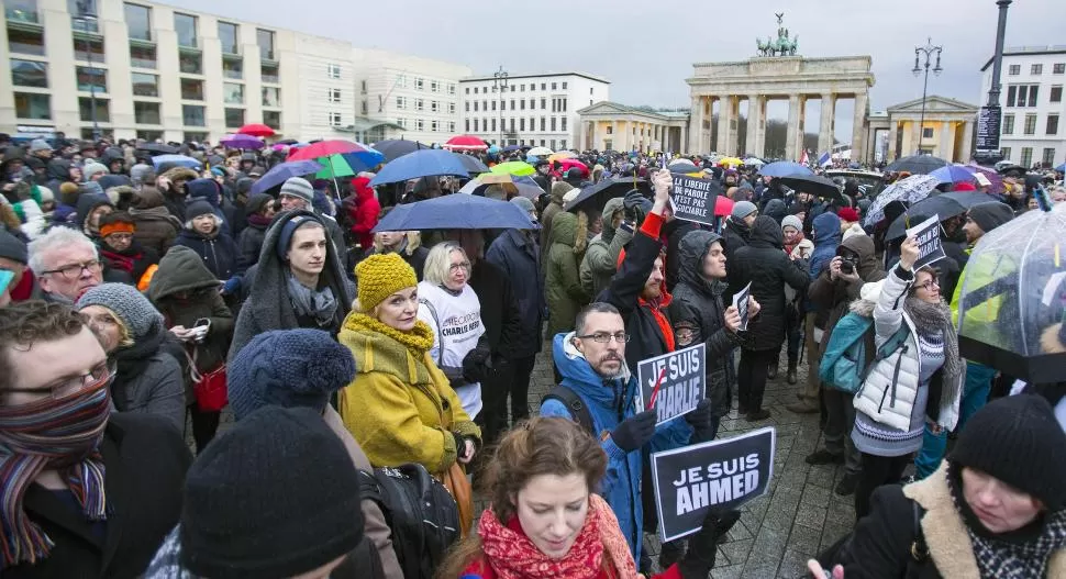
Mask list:
[[[459,81],[462,133],[487,143],[578,146],[578,110],[610,99],[609,80],[585,73],[475,76]]]

